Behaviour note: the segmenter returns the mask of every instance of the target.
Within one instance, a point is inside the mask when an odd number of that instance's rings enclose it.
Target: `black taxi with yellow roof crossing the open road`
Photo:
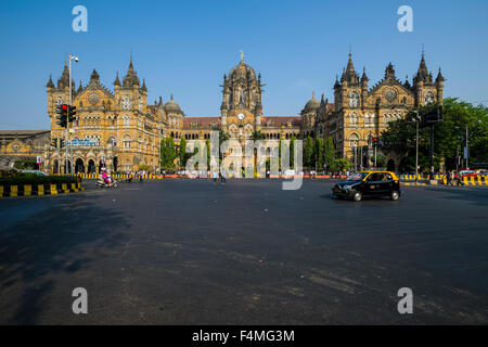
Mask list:
[[[398,200],[401,195],[400,180],[390,171],[359,171],[346,181],[332,188],[332,194],[360,202],[363,196],[388,196]]]

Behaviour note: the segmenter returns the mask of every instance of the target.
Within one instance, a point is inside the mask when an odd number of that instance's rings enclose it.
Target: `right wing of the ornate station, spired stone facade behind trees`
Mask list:
[[[401,82],[389,63],[384,78],[372,88],[363,69],[361,78],[356,72],[351,54],[347,67],[334,85],[334,103],[318,103],[312,98],[301,112],[303,136],[317,134],[332,138],[337,157],[356,162],[357,167],[370,167],[373,151],[372,139],[386,130],[388,123],[404,117],[415,107],[444,100],[444,77],[439,73],[434,80],[422,53],[419,69],[410,85],[408,77]],[[323,97],[322,97],[323,100]],[[401,156],[384,153],[388,167],[398,170]]]

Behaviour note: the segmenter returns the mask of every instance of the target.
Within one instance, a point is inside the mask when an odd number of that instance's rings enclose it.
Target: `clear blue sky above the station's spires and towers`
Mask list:
[[[72,30],[72,9],[88,9],[88,33]],[[399,33],[397,9],[413,9]],[[149,102],[169,94],[189,116],[217,116],[222,76],[240,60],[262,75],[265,115],[296,115],[316,91],[333,99],[349,47],[370,86],[388,62],[411,80],[422,44],[427,66],[447,78],[446,97],[488,103],[488,1],[23,1],[0,4],[0,129],[47,129],[46,82],[69,52],[78,86],[97,68],[113,88],[130,54]]]

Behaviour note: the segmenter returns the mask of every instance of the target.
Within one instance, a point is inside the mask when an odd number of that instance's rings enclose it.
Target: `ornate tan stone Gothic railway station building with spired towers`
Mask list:
[[[441,104],[444,93],[440,69],[434,79],[423,53],[412,83],[408,78],[400,81],[390,63],[384,78],[372,87],[365,69],[360,76],[349,54],[347,66],[333,86],[334,101],[329,102],[323,94],[318,100],[312,93],[297,116],[264,114],[261,75],[256,75],[245,63],[243,53],[237,65],[223,75],[222,102],[217,117],[185,116],[172,95],[166,103],[159,97],[154,104],[147,104],[145,80],[141,83],[132,59],[124,78],[120,80],[117,73],[113,85],[113,90],[103,86],[95,69],[86,86],[80,82],[76,88],[72,83],[73,104],[77,107],[72,139],[90,140],[88,145],[73,146],[77,172],[98,172],[101,167],[134,171],[141,164],[156,170],[162,139],[172,137],[177,144],[183,138],[206,140],[211,130],[222,130],[231,139],[241,141],[251,139],[257,131],[265,140],[332,138],[337,157],[356,158],[363,167],[369,167],[372,138],[380,137],[389,121],[403,117],[411,108],[433,102]],[[41,156],[46,171],[64,172],[65,151],[51,144],[59,144],[65,138],[65,129],[56,125],[55,110],[56,105],[68,103],[66,64],[56,85],[50,77],[47,92],[51,130],[0,132],[0,158]],[[361,149],[361,158],[358,149]],[[388,166],[398,169],[401,155],[384,154]]]

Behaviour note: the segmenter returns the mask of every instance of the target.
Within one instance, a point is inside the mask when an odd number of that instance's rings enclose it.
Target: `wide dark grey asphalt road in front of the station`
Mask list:
[[[93,184],[0,200],[1,324],[488,323],[486,188],[352,203],[321,180]]]

